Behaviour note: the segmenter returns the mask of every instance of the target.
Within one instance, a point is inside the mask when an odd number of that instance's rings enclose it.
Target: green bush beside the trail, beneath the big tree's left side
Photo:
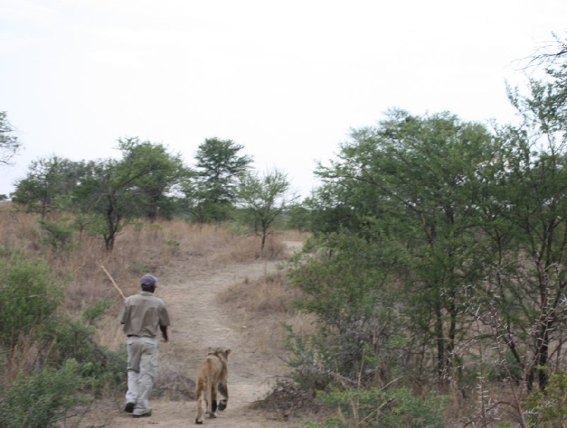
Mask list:
[[[391,306],[400,291],[385,287],[391,263],[387,249],[383,242],[331,233],[312,239],[305,253],[291,258],[291,284],[303,291],[294,303],[320,322],[319,339],[313,342],[325,344],[320,347],[329,356],[325,361],[332,362],[327,371],[357,378],[363,355],[379,349],[384,380],[392,375],[395,352],[404,348],[391,345],[403,331]],[[376,366],[368,369],[365,376],[374,376]]]

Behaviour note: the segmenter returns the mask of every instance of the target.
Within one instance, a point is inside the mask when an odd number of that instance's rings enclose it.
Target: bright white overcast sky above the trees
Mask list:
[[[505,81],[566,19],[565,0],[0,0],[0,110],[24,146],[0,193],[52,154],[140,137],[191,166],[219,137],[306,196],[388,108],[513,120]]]

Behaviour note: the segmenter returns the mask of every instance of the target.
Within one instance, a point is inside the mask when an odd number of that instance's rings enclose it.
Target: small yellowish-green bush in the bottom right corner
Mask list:
[[[549,374],[549,369],[540,367]],[[529,427],[564,427],[567,421],[567,371],[549,374],[545,391],[532,391],[522,403]]]

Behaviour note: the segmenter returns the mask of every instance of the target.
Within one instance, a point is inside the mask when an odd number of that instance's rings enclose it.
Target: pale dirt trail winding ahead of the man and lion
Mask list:
[[[230,348],[228,359],[229,402],[216,419],[206,419],[203,427],[278,428],[291,424],[270,420],[269,415],[248,408],[249,403],[269,391],[269,382],[282,369],[282,364],[269,347],[250,345],[250,333],[237,317],[228,313],[215,296],[232,284],[245,279],[254,281],[275,272],[275,262],[227,263],[215,270],[191,272],[182,261],[174,261],[159,277],[157,296],[164,299],[172,318],[170,341],[160,345],[159,371],[179,372],[194,380],[198,363],[211,347]],[[173,401],[153,398],[152,417],[132,418],[120,408],[108,410],[105,421],[84,427],[169,427],[194,424],[196,401]]]

